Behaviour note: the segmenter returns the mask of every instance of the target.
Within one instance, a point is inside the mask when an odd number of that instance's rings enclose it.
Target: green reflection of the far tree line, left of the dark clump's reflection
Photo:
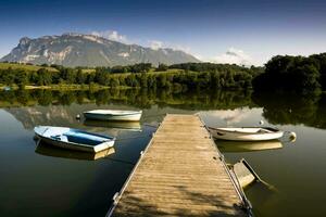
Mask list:
[[[5,103],[3,103],[5,102]],[[158,104],[160,107],[172,106],[184,110],[213,110],[252,106],[251,92],[212,91],[179,92],[171,89],[105,89],[99,91],[51,91],[18,90],[0,92],[0,106],[20,105],[70,105],[92,102],[97,105],[109,103],[133,105],[149,108]]]

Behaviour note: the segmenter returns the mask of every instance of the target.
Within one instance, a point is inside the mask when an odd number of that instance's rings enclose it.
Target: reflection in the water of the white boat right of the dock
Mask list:
[[[223,141],[216,142],[221,152],[253,152],[263,150],[281,149],[283,144],[278,140],[242,142],[242,141]]]

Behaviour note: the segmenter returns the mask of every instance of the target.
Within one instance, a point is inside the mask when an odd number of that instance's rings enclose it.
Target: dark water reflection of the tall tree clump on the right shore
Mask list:
[[[326,127],[323,118],[325,94],[253,94],[252,100],[262,106],[263,116],[272,124],[304,124],[313,127]],[[324,127],[323,127],[324,128]]]

